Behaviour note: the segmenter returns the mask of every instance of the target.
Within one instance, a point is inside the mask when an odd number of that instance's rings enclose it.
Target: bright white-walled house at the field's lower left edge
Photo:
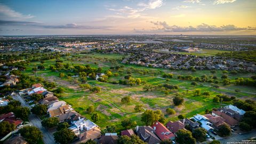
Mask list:
[[[68,129],[72,130],[76,135],[94,129],[95,127],[99,127],[97,124],[94,124],[89,119],[84,120],[84,118],[79,119],[74,122],[73,126],[70,126]]]

